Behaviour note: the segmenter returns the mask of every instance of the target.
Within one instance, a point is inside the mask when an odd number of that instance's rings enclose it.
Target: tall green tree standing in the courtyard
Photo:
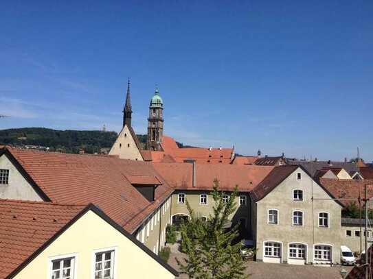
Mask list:
[[[234,244],[238,236],[238,226],[227,230],[229,215],[236,210],[237,187],[227,202],[223,201],[224,192],[219,191],[219,182],[214,180],[213,213],[207,221],[202,221],[186,204],[190,219],[181,222],[181,250],[186,257],[177,259],[181,270],[189,278],[203,279],[242,279],[245,276],[245,261],[240,252],[241,243]]]

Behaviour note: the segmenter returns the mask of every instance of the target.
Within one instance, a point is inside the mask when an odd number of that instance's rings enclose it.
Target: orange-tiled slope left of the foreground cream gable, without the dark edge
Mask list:
[[[86,207],[0,199],[0,279],[8,276]]]

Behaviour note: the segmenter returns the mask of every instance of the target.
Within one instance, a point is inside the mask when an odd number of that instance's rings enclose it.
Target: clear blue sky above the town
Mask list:
[[[131,77],[137,133],[158,84],[177,141],[373,160],[370,0],[7,2],[0,129],[119,131]]]

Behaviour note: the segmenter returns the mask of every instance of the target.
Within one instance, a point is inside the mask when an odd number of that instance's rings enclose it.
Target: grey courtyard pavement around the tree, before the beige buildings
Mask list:
[[[171,247],[170,259],[168,264],[170,264],[174,269],[180,271],[175,257],[181,260],[184,256],[181,252],[178,251],[178,244],[175,243]],[[259,279],[259,278],[268,278],[268,279],[321,279],[321,278],[342,278],[341,269],[350,271],[352,267],[341,267],[340,265],[333,267],[318,267],[314,265],[286,265],[286,264],[277,264],[277,263],[258,263],[253,261],[247,262],[246,272],[249,275],[249,279]],[[186,279],[188,276],[181,274],[179,278]]]

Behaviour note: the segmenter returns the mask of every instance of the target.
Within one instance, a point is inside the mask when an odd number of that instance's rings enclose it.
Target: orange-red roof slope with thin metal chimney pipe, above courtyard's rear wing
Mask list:
[[[192,185],[191,163],[153,163],[155,169],[175,189],[211,190],[215,178],[220,182],[220,189],[233,191],[251,191],[273,167],[250,165],[207,165],[195,164],[196,184]]]

